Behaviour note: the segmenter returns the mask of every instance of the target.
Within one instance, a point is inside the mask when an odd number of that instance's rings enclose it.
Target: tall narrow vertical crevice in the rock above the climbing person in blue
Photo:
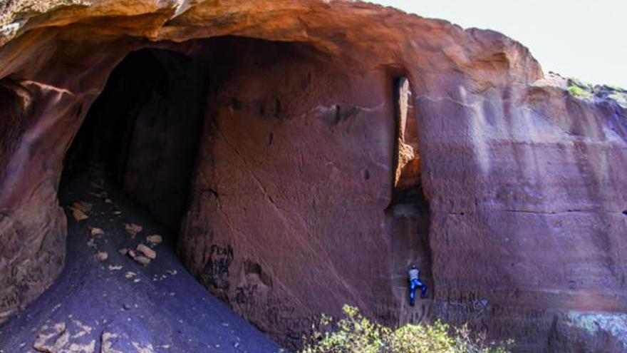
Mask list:
[[[416,265],[432,293],[429,247],[429,204],[420,181],[418,125],[412,102],[410,81],[393,79],[395,138],[393,148],[393,183],[391,201],[385,210],[391,237],[391,262],[394,295],[400,303],[400,322],[415,322],[427,314],[427,302],[408,307],[407,272]]]

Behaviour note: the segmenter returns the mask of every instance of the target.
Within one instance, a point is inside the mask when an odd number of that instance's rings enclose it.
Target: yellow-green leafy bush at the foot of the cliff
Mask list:
[[[452,328],[442,322],[405,324],[390,329],[363,317],[345,305],[344,317],[322,315],[301,353],[506,353],[513,341],[487,342],[467,327]]]

